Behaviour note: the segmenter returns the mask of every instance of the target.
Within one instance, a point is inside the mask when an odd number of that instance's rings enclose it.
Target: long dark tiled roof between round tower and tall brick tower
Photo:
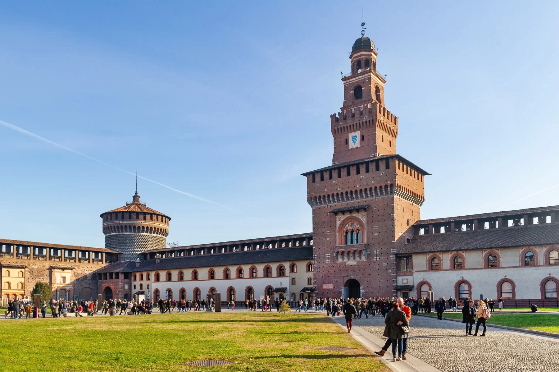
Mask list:
[[[258,251],[241,251],[234,253],[219,253],[214,255],[184,256],[171,258],[158,258],[156,260],[140,261],[140,266],[136,267],[135,261],[125,261],[125,265],[114,265],[103,267],[96,271],[100,272],[132,272],[132,271],[161,271],[172,269],[192,269],[195,267],[216,267],[231,266],[234,270],[236,266],[248,265],[252,263],[282,262],[312,260],[312,247],[291,247],[291,248],[272,248],[259,249]]]

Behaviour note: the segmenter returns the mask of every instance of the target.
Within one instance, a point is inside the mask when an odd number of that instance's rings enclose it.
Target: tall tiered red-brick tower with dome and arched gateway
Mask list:
[[[429,174],[396,154],[398,119],[384,106],[375,45],[361,34],[342,77],[343,107],[330,115],[332,165],[303,173],[318,296],[395,295],[395,252],[411,238]]]

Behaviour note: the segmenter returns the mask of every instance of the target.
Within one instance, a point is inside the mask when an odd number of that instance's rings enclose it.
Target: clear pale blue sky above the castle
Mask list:
[[[557,2],[4,3],[0,120],[226,206],[140,179],[168,241],[310,232],[362,10],[422,218],[559,204]],[[0,237],[102,247],[134,176],[0,139]]]

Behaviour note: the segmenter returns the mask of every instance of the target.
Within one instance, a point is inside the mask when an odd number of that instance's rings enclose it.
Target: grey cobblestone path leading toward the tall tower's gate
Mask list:
[[[361,326],[378,337],[385,328],[380,316],[358,319]],[[483,328],[483,327],[481,327]],[[488,329],[486,337],[465,336],[466,325],[412,317],[408,352],[444,372],[559,371],[559,342],[518,333]]]

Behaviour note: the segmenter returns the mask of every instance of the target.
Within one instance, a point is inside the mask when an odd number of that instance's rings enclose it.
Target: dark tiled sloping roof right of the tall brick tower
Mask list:
[[[542,224],[414,237],[397,254],[469,251],[506,247],[559,244],[559,224]]]

